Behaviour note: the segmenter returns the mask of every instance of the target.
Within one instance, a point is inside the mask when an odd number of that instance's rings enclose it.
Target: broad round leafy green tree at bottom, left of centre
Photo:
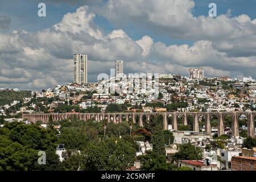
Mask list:
[[[136,150],[131,143],[114,138],[90,142],[81,154],[81,169],[119,171],[133,166]]]

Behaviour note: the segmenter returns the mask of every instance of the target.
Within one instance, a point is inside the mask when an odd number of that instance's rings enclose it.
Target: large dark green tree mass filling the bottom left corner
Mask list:
[[[55,154],[56,135],[52,130],[11,122],[0,128],[0,134],[0,171],[64,169]],[[38,152],[42,150],[46,151],[46,165],[38,164]]]

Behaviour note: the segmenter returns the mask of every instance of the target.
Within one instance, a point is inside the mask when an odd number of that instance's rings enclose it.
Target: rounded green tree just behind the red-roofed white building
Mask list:
[[[203,159],[203,150],[200,147],[193,146],[188,142],[178,145],[178,152],[174,154],[174,160],[201,160]]]

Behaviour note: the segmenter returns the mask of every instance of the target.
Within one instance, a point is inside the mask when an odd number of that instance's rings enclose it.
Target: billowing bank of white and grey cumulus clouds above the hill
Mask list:
[[[115,23],[140,22],[195,42],[168,46],[148,35],[134,40],[120,28],[106,33],[94,23],[97,11],[81,6],[45,30],[0,33],[0,87],[39,90],[72,82],[75,53],[89,55],[89,80],[96,80],[98,73],[109,74],[114,60],[124,60],[126,73],[185,76],[189,68],[203,67],[206,76],[256,76],[255,20],[249,16],[194,17],[195,3],[189,0],[159,0],[154,6],[151,0],[131,2],[110,0],[102,14]]]

